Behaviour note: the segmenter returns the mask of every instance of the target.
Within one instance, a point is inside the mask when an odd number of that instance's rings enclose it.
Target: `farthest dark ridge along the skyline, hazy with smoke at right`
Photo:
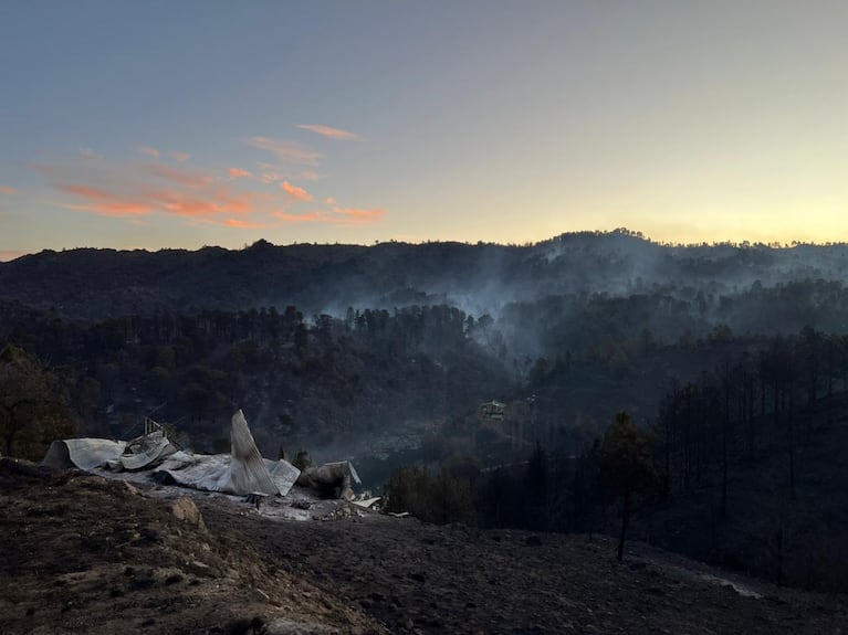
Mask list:
[[[287,305],[305,315],[413,304],[495,315],[510,303],[565,294],[660,290],[682,297],[807,278],[846,281],[848,245],[664,246],[616,231],[526,246],[259,241],[237,251],[44,251],[0,263],[0,299],[81,319]]]

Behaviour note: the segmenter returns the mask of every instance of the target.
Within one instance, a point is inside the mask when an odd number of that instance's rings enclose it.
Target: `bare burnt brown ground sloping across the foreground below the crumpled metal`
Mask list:
[[[619,563],[606,538],[432,527],[341,502],[286,520],[8,459],[0,504],[3,634],[848,633],[845,596],[638,544]]]

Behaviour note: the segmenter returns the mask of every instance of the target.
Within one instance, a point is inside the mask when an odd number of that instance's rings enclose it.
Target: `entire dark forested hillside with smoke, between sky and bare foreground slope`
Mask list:
[[[625,230],[42,252],[0,264],[0,451],[126,437],[146,415],[222,449],[242,408],[269,456],[355,457],[374,488],[418,463],[418,490],[457,494],[432,520],[587,531],[613,527],[596,440],[627,412],[656,468],[637,535],[844,590],[800,537],[838,548],[848,522],[847,279],[842,244]]]

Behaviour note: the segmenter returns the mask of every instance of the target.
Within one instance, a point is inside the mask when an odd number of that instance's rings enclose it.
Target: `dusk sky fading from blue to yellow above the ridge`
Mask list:
[[[0,260],[848,240],[848,2],[3,0]]]

